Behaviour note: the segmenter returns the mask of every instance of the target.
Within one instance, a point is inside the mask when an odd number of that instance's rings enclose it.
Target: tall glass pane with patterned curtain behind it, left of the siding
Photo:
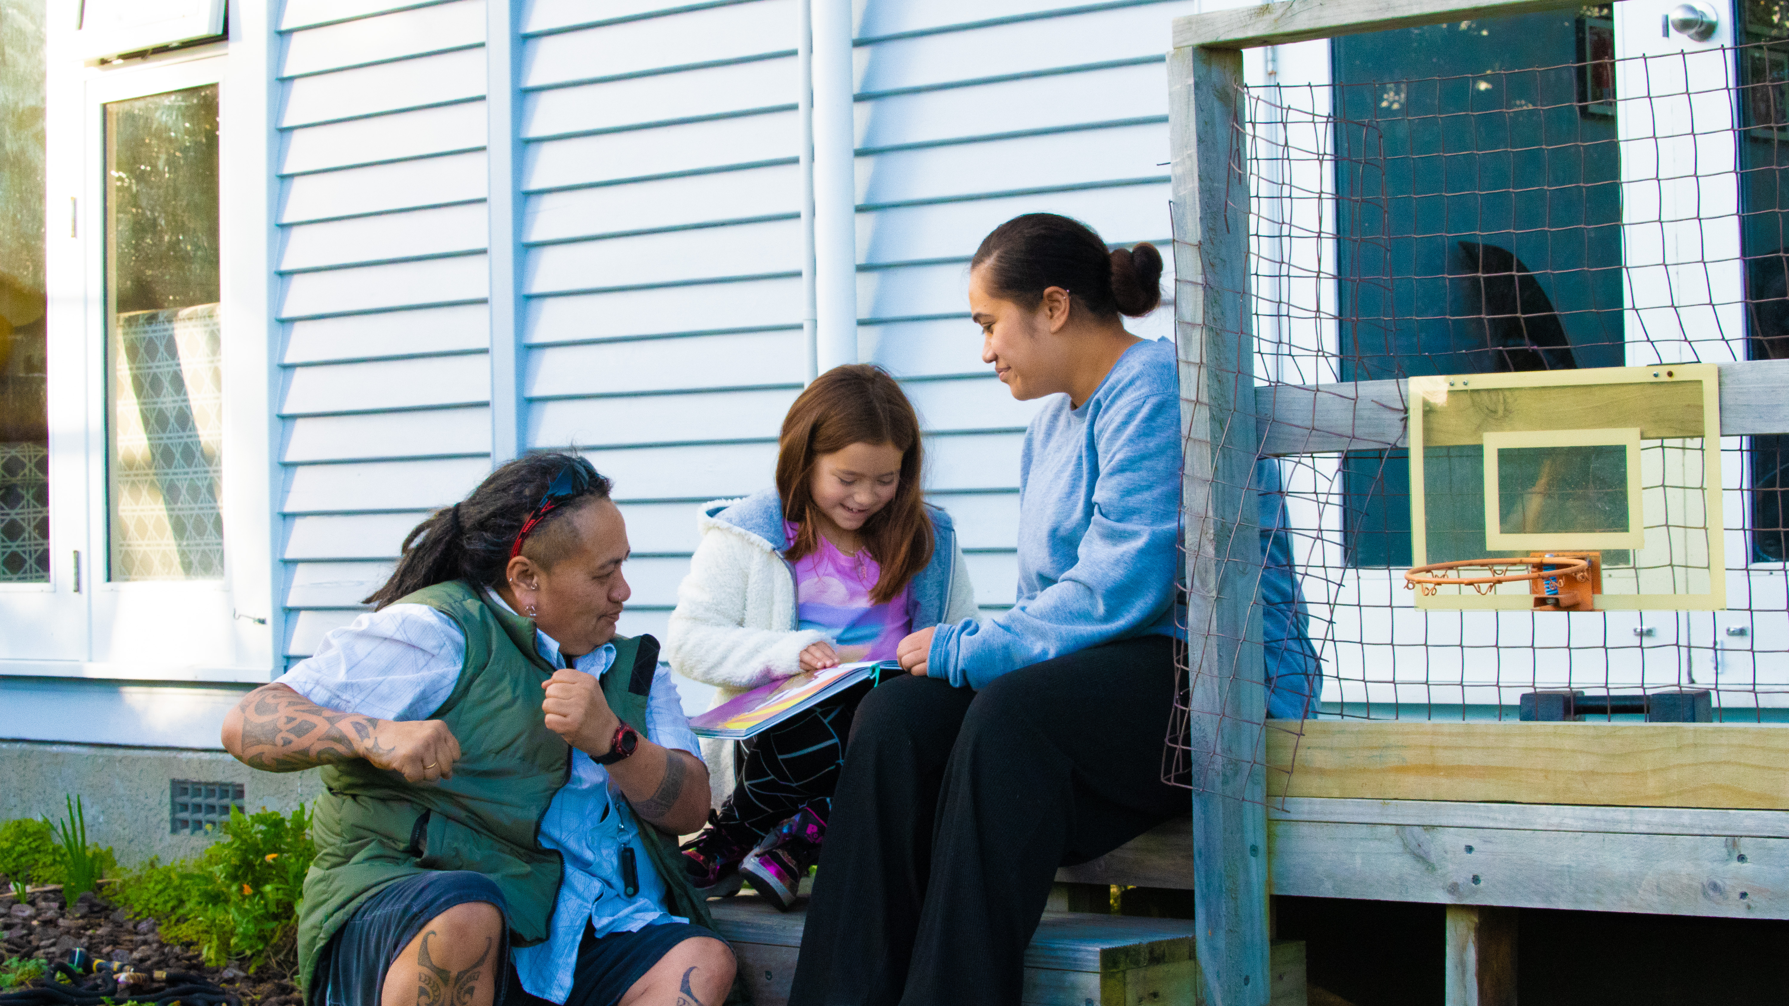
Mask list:
[[[224,575],[216,86],[106,105],[111,579]]]

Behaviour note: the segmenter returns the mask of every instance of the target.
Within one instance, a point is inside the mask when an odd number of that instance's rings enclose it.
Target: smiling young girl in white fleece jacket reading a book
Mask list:
[[[920,420],[884,370],[828,370],[784,418],[776,488],[717,500],[678,588],[666,654],[716,704],[800,672],[894,659],[918,629],[975,616],[950,516],[920,497]],[[852,715],[868,686],[741,743],[705,740],[725,793],[683,847],[710,895],[741,881],[778,908],[819,858]],[[737,765],[737,781],[735,781]]]

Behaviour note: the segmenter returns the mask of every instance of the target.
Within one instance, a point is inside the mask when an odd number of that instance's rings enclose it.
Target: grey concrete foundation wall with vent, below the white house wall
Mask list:
[[[166,747],[102,747],[84,743],[0,742],[0,820],[64,817],[63,795],[77,795],[88,842],[111,845],[118,863],[132,867],[159,856],[163,863],[197,856],[204,834],[168,831],[168,781],[242,783],[243,808],[292,813],[317,799],[317,770],[256,772],[222,750]]]

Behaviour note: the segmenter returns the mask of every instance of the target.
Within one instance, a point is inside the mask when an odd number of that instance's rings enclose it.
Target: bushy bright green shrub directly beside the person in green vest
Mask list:
[[[245,815],[231,811],[224,836],[199,859],[131,872],[109,893],[136,915],[161,922],[165,940],[195,943],[206,963],[290,967],[299,899],[311,845],[304,808]]]

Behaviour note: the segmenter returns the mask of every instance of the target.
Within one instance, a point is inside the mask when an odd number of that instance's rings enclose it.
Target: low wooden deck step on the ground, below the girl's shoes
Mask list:
[[[733,943],[755,1006],[784,1006],[801,949],[805,904],[787,915],[755,895],[708,902],[714,926]],[[1045,911],[1025,951],[1023,1001],[1032,1006],[1190,1006],[1199,1002],[1193,924]],[[1304,1006],[1304,943],[1272,951],[1274,1006]]]

